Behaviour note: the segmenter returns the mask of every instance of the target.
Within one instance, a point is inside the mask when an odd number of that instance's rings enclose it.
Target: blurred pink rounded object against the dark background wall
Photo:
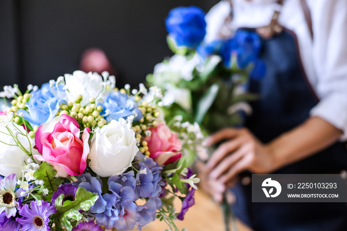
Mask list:
[[[83,52],[80,62],[80,70],[88,73],[108,71],[110,75],[115,75],[116,71],[113,68],[109,58],[105,52],[99,48],[90,48]]]

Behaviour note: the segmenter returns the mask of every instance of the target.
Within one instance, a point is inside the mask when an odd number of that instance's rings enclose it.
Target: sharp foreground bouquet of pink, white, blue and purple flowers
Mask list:
[[[115,83],[75,71],[0,92],[13,98],[0,112],[0,230],[141,230],[156,218],[178,230],[199,182],[178,164],[189,144],[161,118],[160,89]]]

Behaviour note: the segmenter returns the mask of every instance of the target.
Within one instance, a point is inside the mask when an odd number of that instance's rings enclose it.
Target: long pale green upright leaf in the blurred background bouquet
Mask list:
[[[211,108],[212,104],[214,103],[217,94],[219,91],[218,84],[213,84],[208,89],[208,91],[200,98],[198,104],[197,104],[197,110],[196,110],[196,116],[195,121],[201,124],[201,122],[204,120],[204,117],[207,113],[207,111]]]

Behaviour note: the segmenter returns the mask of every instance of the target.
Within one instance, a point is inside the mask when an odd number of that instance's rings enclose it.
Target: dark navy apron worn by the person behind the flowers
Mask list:
[[[250,91],[261,99],[251,103],[253,114],[245,125],[267,143],[304,122],[318,100],[303,71],[294,33],[284,29],[271,39],[262,39],[262,44],[260,59],[267,71],[263,79],[250,80]],[[346,146],[337,142],[274,173],[340,173],[346,169]],[[232,191],[235,215],[255,231],[347,230],[345,203],[252,203],[251,184],[238,183]]]

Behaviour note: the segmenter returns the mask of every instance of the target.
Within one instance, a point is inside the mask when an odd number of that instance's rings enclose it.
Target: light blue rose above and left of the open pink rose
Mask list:
[[[51,88],[49,83],[43,84],[26,103],[28,110],[20,109],[18,113],[22,112],[25,120],[36,126],[51,121],[58,113],[59,105],[66,104],[66,101],[60,99],[65,95],[62,88],[62,84],[59,84],[58,88],[56,85]]]

